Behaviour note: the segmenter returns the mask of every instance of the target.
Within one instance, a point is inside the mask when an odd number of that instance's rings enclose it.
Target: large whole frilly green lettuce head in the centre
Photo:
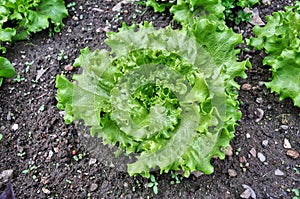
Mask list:
[[[130,175],[212,173],[210,159],[225,157],[241,117],[234,78],[249,66],[236,61],[241,42],[208,19],[182,30],[124,25],[108,34],[110,52],[81,50],[73,82],[57,76],[57,107],[66,123],[83,120],[92,136],[133,155]]]

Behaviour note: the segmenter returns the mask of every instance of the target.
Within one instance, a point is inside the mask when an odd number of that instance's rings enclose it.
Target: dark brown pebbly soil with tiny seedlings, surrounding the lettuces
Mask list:
[[[65,67],[73,64],[80,49],[107,48],[106,31],[117,31],[122,22],[153,21],[155,27],[173,22],[166,13],[154,13],[134,3],[113,11],[120,1],[67,0],[66,4],[70,2],[76,5],[69,8],[60,33],[50,37],[49,31],[43,31],[30,41],[7,45],[5,56],[19,75],[6,79],[0,89],[0,173],[13,170],[10,178],[16,198],[240,198],[247,190],[245,185],[256,198],[295,196],[292,190],[300,189],[300,159],[287,156],[283,143],[286,138],[292,150],[300,152],[300,109],[290,99],[280,101],[264,86],[271,73],[262,66],[265,54],[260,51],[240,55],[252,63],[248,77],[237,79],[243,88],[239,91],[243,117],[231,142],[233,155],[213,159],[213,174],[178,175],[176,183],[176,174],[154,172],[156,195],[147,186],[149,179],[130,177],[95,160],[79,139],[76,126],[66,125],[56,108],[55,76],[77,73],[78,69],[68,71]],[[267,14],[291,4],[273,0],[258,9],[266,22]],[[244,37],[252,34],[249,23],[232,26]],[[261,154],[265,161],[258,158]],[[0,179],[0,193],[6,184],[7,180]]]

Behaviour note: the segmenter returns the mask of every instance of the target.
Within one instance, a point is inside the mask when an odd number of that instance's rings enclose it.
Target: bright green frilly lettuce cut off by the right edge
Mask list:
[[[254,27],[256,37],[249,44],[267,53],[263,64],[272,67],[272,79],[266,86],[281,100],[290,97],[300,107],[300,2],[267,20],[265,27]]]

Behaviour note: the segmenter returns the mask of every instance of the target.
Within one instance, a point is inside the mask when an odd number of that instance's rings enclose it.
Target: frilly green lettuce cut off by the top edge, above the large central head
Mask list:
[[[147,0],[146,5],[153,7],[155,12],[169,9],[174,20],[190,24],[194,17],[209,17],[214,20],[227,19],[240,24],[249,21],[251,13],[243,11],[245,7],[253,7],[259,0]]]

